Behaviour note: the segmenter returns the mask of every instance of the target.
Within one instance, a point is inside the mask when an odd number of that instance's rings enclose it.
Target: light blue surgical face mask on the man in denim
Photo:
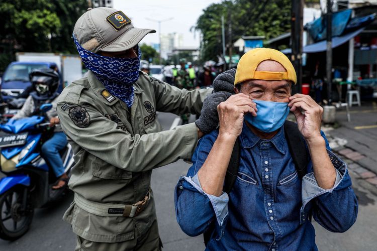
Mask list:
[[[290,112],[286,102],[271,102],[253,100],[256,103],[256,117],[251,113],[245,114],[244,118],[255,128],[264,133],[271,133],[282,127]]]

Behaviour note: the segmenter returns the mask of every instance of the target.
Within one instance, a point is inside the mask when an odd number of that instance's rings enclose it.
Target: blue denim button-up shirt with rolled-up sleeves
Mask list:
[[[218,131],[204,136],[193,156],[193,166],[175,188],[178,224],[190,236],[216,229],[208,250],[317,250],[313,218],[327,230],[344,232],[356,220],[358,203],[347,165],[326,149],[337,170],[334,187],[322,189],[309,159],[307,175],[296,171],[284,128],[270,140],[254,135],[244,123],[240,135],[238,177],[229,193],[206,194],[197,173],[215,143]]]

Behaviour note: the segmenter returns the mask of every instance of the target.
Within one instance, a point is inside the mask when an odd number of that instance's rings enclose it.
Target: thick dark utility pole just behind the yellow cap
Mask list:
[[[303,9],[304,0],[292,1],[291,19],[291,61],[296,70],[297,85],[294,87],[295,93],[302,91],[302,54],[303,54]]]

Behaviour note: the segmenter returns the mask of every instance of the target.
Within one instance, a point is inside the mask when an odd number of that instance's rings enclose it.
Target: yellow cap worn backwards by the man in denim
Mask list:
[[[265,60],[280,63],[286,71],[257,71],[258,65]],[[269,48],[256,48],[246,52],[238,62],[234,85],[251,79],[290,80],[296,84],[296,71],[291,61],[283,53]]]

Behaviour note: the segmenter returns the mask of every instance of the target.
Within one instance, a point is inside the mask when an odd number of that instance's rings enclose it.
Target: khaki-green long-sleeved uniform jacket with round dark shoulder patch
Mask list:
[[[147,194],[152,169],[191,159],[198,140],[195,123],[161,132],[156,111],[199,113],[212,90],[180,90],[142,72],[134,88],[129,109],[89,71],[59,96],[57,113],[76,163],[68,185],[87,200],[134,204]],[[133,218],[97,216],[73,202],[63,219],[90,241],[129,240],[135,228],[143,234],[156,220],[153,194]]]

